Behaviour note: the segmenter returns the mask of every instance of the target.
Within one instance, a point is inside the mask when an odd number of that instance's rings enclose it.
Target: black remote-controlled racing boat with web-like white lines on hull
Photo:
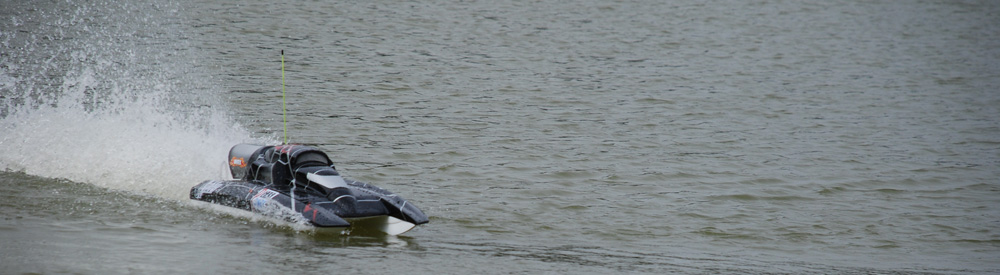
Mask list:
[[[229,171],[234,180],[204,181],[191,199],[347,233],[399,235],[428,222],[399,195],[341,177],[315,147],[238,144],[229,150]]]

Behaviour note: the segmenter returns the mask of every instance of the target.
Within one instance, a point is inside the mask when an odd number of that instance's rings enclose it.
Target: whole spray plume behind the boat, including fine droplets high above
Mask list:
[[[0,23],[0,170],[178,200],[228,177],[229,147],[254,138],[177,7],[154,4],[32,3]]]

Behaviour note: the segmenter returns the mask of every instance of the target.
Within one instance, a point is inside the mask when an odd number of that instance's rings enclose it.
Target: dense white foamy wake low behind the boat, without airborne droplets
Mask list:
[[[225,177],[227,148],[248,138],[232,125],[202,129],[144,101],[129,104],[116,112],[14,112],[2,122],[0,168],[183,199],[192,182]]]

